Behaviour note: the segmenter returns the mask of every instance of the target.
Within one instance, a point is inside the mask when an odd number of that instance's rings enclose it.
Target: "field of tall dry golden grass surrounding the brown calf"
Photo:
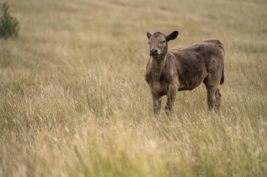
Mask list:
[[[0,176],[266,176],[266,1],[11,0],[0,39]],[[152,113],[146,31],[225,46],[221,113],[204,85]],[[166,98],[164,97],[164,103]]]

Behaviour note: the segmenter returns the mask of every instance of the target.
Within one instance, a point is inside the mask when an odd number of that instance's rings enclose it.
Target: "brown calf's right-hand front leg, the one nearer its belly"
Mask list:
[[[178,90],[178,86],[176,84],[171,83],[168,85],[167,104],[165,106],[165,113],[167,115],[171,114],[172,107],[174,106],[174,101],[175,101],[177,90]]]

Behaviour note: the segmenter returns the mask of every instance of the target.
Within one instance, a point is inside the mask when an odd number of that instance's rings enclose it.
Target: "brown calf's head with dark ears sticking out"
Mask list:
[[[173,31],[171,34],[166,36],[161,32],[156,32],[155,34],[150,34],[147,32],[148,43],[150,45],[150,56],[155,58],[162,58],[167,54],[168,45],[170,40],[176,39],[178,36],[178,31]]]

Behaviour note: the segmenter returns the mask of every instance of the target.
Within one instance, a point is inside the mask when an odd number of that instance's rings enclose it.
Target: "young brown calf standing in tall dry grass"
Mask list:
[[[145,80],[152,94],[154,113],[159,114],[161,97],[167,95],[165,112],[171,113],[176,92],[193,90],[201,83],[207,88],[208,110],[219,111],[223,84],[223,44],[217,39],[202,41],[186,48],[168,51],[168,42],[178,36],[173,31],[168,36],[161,32],[147,32],[150,59],[146,66]]]

